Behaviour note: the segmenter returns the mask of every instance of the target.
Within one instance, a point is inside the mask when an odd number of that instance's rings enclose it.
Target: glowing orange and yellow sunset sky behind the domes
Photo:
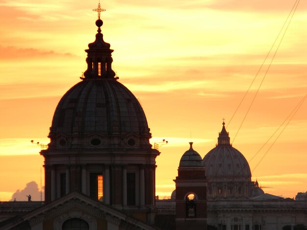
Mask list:
[[[229,123],[230,118],[295,2],[101,1],[102,33],[114,49],[112,67],[139,99],[152,144],[169,141],[156,159],[160,198],[175,189],[189,141],[204,157],[215,147],[224,117],[232,142],[281,36]],[[43,157],[30,140],[49,143],[58,101],[86,70],[84,49],[95,40],[97,4],[0,0],[0,201],[29,182],[40,186]],[[301,1],[232,146],[250,161],[306,93],[307,1]],[[265,192],[292,198],[307,191],[307,101],[288,121],[250,167],[252,179],[268,187]]]

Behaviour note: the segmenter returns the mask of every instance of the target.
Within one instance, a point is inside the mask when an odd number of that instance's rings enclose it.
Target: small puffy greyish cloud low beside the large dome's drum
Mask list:
[[[42,188],[42,193],[38,188],[38,184],[35,181],[31,181],[26,184],[26,187],[22,190],[18,189],[13,195],[12,199],[10,201],[26,201],[28,198],[26,196],[31,195],[32,201],[40,201],[41,200],[41,194],[42,194],[42,200],[44,200],[44,187]]]

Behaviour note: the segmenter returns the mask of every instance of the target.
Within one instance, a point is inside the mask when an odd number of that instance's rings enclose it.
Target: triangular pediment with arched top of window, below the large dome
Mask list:
[[[78,192],[69,193],[49,204],[36,208],[19,218],[19,221],[16,222],[15,220],[14,223],[8,223],[4,229],[13,228],[27,222],[30,226],[43,226],[44,224],[50,226],[52,224],[53,230],[60,230],[63,222],[70,218],[85,220],[89,223],[90,230],[99,229],[98,222],[100,224],[105,223],[105,226],[117,226],[116,229],[120,229],[120,226],[121,228],[129,226],[132,229],[156,229],[151,225],[128,216],[118,209]]]

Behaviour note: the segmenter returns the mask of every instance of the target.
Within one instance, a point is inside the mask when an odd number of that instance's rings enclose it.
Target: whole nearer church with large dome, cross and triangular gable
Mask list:
[[[95,11],[98,33],[85,50],[87,69],[59,101],[50,143],[41,151],[45,204],[26,214],[16,210],[12,219],[0,223],[1,230],[156,229],[159,151],[149,142],[139,101],[112,70],[113,50],[101,32],[104,10],[99,4]]]

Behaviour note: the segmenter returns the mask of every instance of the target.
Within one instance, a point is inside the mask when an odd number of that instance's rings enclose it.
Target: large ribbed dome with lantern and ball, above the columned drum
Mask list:
[[[99,20],[98,20],[99,21]],[[58,103],[50,128],[49,148],[151,148],[144,111],[113,71],[110,44],[100,26],[88,45],[82,81]]]

